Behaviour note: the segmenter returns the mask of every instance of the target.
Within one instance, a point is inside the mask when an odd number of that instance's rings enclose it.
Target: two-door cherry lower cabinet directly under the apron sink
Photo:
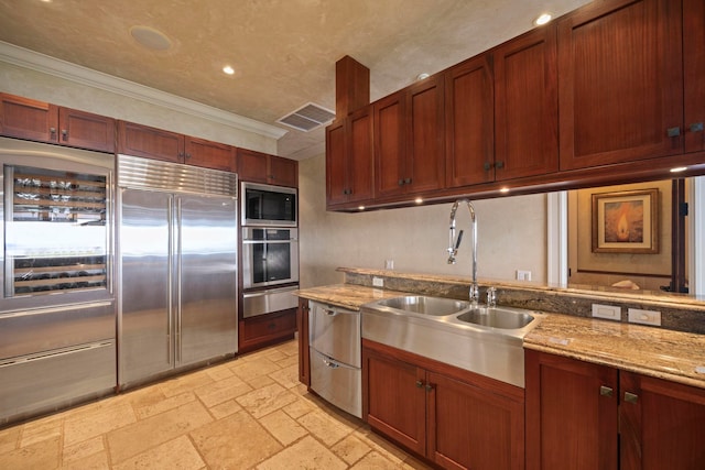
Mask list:
[[[362,414],[448,469],[523,469],[523,390],[362,340]]]

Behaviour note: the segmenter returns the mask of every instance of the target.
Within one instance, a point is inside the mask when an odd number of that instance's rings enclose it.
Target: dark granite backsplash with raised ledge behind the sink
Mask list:
[[[375,287],[372,280],[381,278],[383,288],[411,292],[437,297],[467,299],[469,278],[434,274],[402,273],[384,270],[338,267],[345,273],[347,284]],[[633,293],[592,292],[572,288],[508,284],[506,282],[482,282],[480,300],[485,299],[487,287],[497,288],[497,303],[509,307],[592,317],[593,304],[618,306],[621,321],[627,323],[628,308],[659,310],[661,327],[675,331],[705,335],[705,303],[676,296],[655,296]]]

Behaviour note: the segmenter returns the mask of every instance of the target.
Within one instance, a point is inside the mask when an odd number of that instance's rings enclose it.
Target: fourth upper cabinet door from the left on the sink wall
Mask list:
[[[443,76],[412,85],[408,92],[409,142],[404,190],[421,193],[445,186]]]

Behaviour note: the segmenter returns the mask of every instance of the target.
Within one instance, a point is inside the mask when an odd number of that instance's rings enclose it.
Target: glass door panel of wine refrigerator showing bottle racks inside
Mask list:
[[[105,175],[4,166],[6,297],[106,288]]]

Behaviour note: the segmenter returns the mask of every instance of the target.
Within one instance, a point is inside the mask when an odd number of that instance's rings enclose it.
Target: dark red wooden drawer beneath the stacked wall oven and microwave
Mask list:
[[[240,320],[238,352],[248,352],[294,337],[296,309],[291,308]]]

